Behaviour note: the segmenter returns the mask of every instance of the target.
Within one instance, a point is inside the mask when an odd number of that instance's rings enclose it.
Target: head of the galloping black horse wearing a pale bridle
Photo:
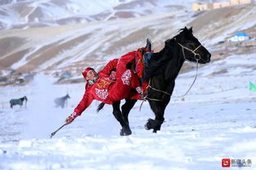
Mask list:
[[[192,28],[182,28],[181,32],[173,37],[182,49],[184,59],[191,62],[209,63],[211,54],[193,35]]]

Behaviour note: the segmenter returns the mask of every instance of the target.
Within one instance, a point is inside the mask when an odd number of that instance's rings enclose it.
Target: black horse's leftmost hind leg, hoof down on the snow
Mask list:
[[[115,116],[115,119],[118,120],[122,126],[120,135],[127,136],[127,135],[132,134],[130,127],[128,126],[127,122],[124,120],[124,116],[122,115],[122,112],[120,111],[120,101],[114,102],[114,104],[112,106],[113,106],[113,115]]]

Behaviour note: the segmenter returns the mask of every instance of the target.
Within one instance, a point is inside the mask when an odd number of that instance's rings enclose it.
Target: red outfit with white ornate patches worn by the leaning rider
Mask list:
[[[98,80],[93,85],[85,85],[85,93],[79,105],[74,108],[77,115],[82,112],[92,103],[92,100],[97,99],[106,104],[113,104],[117,100],[127,98],[131,88],[139,85],[136,75],[131,70],[126,68],[126,64],[134,59],[137,51],[125,54],[120,59],[113,59],[106,65],[105,68],[98,73]],[[110,79],[110,72],[113,68],[117,68],[117,80]]]

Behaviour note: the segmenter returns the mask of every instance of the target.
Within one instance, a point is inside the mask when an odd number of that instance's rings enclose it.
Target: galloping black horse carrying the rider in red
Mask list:
[[[195,63],[209,63],[211,54],[201,45],[200,41],[193,36],[192,28],[182,28],[180,33],[172,39],[165,41],[163,50],[154,53],[145,68],[144,79],[149,80],[146,99],[150,108],[155,113],[155,119],[147,120],[145,128],[153,129],[156,133],[164,123],[164,110],[173,94],[175,79],[187,60]],[[124,105],[119,108],[120,101],[113,104],[113,114],[122,126],[120,135],[130,135],[128,114],[137,100],[125,99]],[[103,104],[100,104],[98,111]]]

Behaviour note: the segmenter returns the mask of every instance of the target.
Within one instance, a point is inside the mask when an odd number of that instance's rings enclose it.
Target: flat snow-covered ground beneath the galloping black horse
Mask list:
[[[29,85],[0,88],[0,169],[222,169],[222,159],[245,161],[256,169],[255,54],[231,56],[200,66],[184,98],[172,98],[159,133],[144,129],[154,118],[148,102],[130,113],[132,135],[119,136],[111,106],[97,104],[50,139],[83,96],[83,84],[53,85],[50,76],[35,76]],[[195,71],[177,77],[174,95],[191,85]],[[70,94],[68,107],[55,108],[56,97]],[[28,97],[27,107],[11,98]],[[249,162],[251,161],[251,162]],[[236,168],[231,168],[236,169]]]

